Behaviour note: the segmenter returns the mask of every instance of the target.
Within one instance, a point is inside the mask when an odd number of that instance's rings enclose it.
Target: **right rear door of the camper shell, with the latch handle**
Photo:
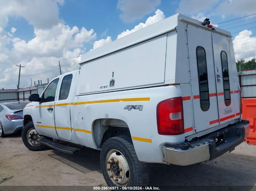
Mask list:
[[[229,39],[218,33],[212,33],[220,124],[240,117],[240,113],[235,113],[234,108],[234,104],[239,104],[239,100],[236,100],[236,103],[234,100],[234,94],[238,93],[238,86],[233,87],[231,69],[234,63],[231,63]]]

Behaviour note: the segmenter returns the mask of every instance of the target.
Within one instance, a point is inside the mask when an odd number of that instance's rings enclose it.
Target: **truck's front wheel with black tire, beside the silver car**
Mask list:
[[[21,137],[24,145],[31,151],[43,151],[47,148],[46,145],[38,142],[41,136],[36,132],[33,122],[25,125],[22,129]]]

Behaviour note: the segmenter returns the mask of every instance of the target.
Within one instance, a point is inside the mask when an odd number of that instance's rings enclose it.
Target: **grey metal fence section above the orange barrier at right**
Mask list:
[[[256,97],[256,70],[239,72],[242,97]]]

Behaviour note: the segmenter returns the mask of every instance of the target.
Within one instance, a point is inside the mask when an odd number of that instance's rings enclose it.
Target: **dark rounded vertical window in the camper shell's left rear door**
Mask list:
[[[203,111],[209,110],[209,86],[208,74],[206,64],[206,53],[202,46],[196,48],[197,70],[198,70],[198,83],[199,83],[199,96],[200,105]]]

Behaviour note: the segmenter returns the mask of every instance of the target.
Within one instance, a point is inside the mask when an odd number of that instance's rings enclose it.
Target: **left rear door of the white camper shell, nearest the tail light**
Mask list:
[[[196,132],[219,125],[211,32],[186,24]]]

